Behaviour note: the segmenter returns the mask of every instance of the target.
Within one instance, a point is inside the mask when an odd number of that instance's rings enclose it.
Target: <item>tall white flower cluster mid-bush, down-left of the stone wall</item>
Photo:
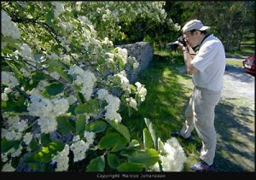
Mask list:
[[[84,71],[77,65],[70,67],[68,73],[77,75],[76,80],[73,83],[82,85],[82,90],[80,90],[80,92],[84,95],[87,101],[90,101],[90,96],[93,92],[93,87],[97,80],[94,73],[91,73],[90,70]]]

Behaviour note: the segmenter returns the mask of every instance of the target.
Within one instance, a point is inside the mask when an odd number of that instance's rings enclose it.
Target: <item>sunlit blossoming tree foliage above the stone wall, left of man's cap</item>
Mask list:
[[[88,18],[100,38],[108,37],[113,44],[163,41],[165,32],[177,32],[180,26],[167,17],[164,1],[160,2],[87,2],[80,13]],[[163,33],[163,30],[165,32]]]

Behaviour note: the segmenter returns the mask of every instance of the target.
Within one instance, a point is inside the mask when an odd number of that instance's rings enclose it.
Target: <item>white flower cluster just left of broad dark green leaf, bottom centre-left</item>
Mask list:
[[[86,142],[84,140],[80,140],[80,136],[73,137],[73,144],[70,146],[70,149],[73,151],[73,161],[77,162],[79,160],[84,160],[86,157],[86,151],[90,148],[90,145],[93,143],[95,138],[94,132],[84,131],[84,137],[86,138]]]

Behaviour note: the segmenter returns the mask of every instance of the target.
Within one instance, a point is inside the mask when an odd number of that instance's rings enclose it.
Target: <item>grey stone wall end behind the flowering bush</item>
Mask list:
[[[131,71],[129,68],[125,68],[127,78],[130,83],[135,83],[138,73],[148,67],[149,61],[153,59],[154,51],[151,45],[147,42],[137,42],[136,44],[124,44],[119,45],[120,48],[127,49],[128,55],[135,57],[139,66],[137,69]]]

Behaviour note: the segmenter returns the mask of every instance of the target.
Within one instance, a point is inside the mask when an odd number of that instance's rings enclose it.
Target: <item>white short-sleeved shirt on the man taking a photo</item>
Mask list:
[[[195,86],[213,91],[222,90],[226,62],[224,46],[218,38],[208,36],[191,64],[198,69],[192,75]]]

